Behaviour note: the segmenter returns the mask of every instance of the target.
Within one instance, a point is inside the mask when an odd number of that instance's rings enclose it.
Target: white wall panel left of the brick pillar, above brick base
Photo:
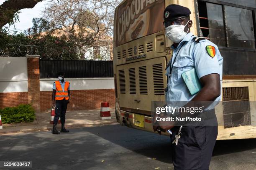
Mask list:
[[[28,92],[27,57],[0,57],[0,92]]]

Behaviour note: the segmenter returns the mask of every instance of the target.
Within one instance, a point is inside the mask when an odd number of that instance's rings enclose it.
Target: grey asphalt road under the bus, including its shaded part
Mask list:
[[[170,145],[166,136],[105,125],[1,135],[0,161],[32,161],[28,170],[173,170]],[[256,170],[256,139],[217,141],[210,169]]]

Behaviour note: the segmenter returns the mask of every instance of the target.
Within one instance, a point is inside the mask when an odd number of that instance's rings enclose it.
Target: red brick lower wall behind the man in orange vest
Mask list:
[[[41,112],[51,108],[51,91],[40,92]],[[101,102],[109,102],[110,107],[115,107],[115,90],[71,90],[70,103],[67,110],[83,110],[100,108]]]

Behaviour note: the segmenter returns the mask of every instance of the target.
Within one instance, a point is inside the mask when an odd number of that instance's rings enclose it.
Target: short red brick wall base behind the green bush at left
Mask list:
[[[14,107],[20,104],[28,104],[28,92],[0,93],[0,108]]]

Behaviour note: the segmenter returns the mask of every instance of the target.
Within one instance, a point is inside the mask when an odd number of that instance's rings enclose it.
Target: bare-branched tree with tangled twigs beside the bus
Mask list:
[[[112,54],[115,7],[120,1],[55,0],[45,8],[44,19],[56,29],[55,35],[74,42],[81,55],[101,47],[99,56],[104,57]]]

